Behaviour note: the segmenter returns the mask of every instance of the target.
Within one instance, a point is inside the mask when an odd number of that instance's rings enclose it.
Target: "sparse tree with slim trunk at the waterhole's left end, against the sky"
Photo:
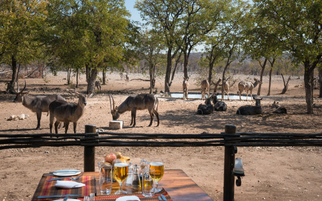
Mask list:
[[[176,45],[176,41],[179,40],[179,25],[184,11],[183,2],[183,0],[138,0],[135,3],[135,8],[141,12],[141,18],[164,36],[168,48],[165,92],[170,92],[172,59],[181,49]]]

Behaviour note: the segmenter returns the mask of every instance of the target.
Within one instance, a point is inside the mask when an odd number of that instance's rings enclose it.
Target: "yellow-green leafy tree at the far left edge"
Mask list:
[[[13,93],[17,64],[28,63],[41,47],[37,37],[46,18],[45,0],[6,0],[0,2],[0,61],[10,64],[12,78],[7,91]]]

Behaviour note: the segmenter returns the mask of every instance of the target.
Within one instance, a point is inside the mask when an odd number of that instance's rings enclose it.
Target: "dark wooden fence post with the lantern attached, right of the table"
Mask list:
[[[225,126],[225,134],[235,134],[235,133],[236,133],[235,126],[233,125]],[[231,135],[228,135],[228,136],[232,137]],[[235,152],[236,150],[234,146],[225,145],[225,160],[224,160],[224,170],[223,170],[223,200],[224,201],[234,200],[235,178],[232,173],[232,169],[235,164]]]

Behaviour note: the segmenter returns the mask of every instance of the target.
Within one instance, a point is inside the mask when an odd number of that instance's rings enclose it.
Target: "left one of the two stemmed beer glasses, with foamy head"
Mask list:
[[[129,175],[129,164],[125,159],[116,159],[113,170],[114,179],[119,182],[120,189],[115,194],[126,194],[127,191],[122,190],[122,183]]]

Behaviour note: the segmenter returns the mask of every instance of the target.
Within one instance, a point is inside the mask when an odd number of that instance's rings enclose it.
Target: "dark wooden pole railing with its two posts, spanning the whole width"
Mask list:
[[[171,141],[156,141],[156,140]],[[183,141],[184,139],[191,139]],[[139,134],[96,132],[86,125],[83,134],[0,134],[0,150],[28,147],[84,146],[84,171],[95,171],[95,147],[205,147],[224,146],[223,200],[234,199],[232,172],[237,147],[251,146],[322,146],[322,133],[236,133],[236,127],[225,126],[220,134]]]

